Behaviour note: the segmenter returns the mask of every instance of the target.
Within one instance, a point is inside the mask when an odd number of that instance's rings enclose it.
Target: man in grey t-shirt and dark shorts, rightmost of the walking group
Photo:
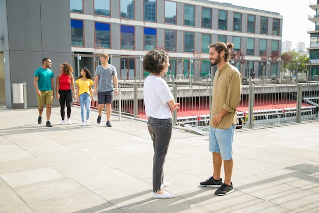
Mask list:
[[[94,77],[94,94],[97,94],[97,123],[101,123],[102,110],[105,104],[105,113],[107,114],[107,127],[112,127],[110,123],[110,117],[112,112],[113,102],[113,83],[115,85],[115,95],[118,95],[118,81],[117,72],[115,66],[108,63],[109,55],[102,54],[100,56],[101,65],[98,65],[95,69]],[[97,88],[98,85],[98,88]]]

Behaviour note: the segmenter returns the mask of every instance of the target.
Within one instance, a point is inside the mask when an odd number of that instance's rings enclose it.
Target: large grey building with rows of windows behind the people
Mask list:
[[[33,75],[44,57],[51,58],[55,76],[58,64],[66,61],[76,78],[82,67],[94,73],[98,56],[107,53],[118,78],[134,80],[148,75],[143,56],[154,48],[168,52],[169,75],[198,78],[216,69],[207,60],[210,43],[231,42],[245,60],[255,61],[241,69],[243,76],[252,70],[260,76],[260,56],[281,52],[279,13],[207,0],[0,0],[0,17],[0,57],[5,61],[0,63],[0,85],[5,84],[0,100],[8,108],[22,107],[12,102],[12,83],[22,81],[28,107],[37,106]],[[265,75],[279,72],[274,65]]]

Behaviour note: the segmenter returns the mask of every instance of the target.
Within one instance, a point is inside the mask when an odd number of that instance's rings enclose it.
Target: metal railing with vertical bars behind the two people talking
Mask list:
[[[297,79],[297,80],[296,80]],[[279,82],[277,82],[279,80]],[[300,83],[304,82],[304,83]],[[114,97],[112,113],[147,120],[143,100],[143,83],[119,82],[119,95]],[[173,111],[173,123],[192,126],[208,131],[211,108],[211,93],[214,85],[207,80],[168,82],[180,103],[180,110]],[[237,107],[240,124],[237,128],[247,129],[286,123],[318,120],[319,83],[300,78],[273,79],[271,77],[251,79],[243,82],[242,101]],[[74,105],[79,105],[77,102]],[[91,103],[97,109],[97,99]]]

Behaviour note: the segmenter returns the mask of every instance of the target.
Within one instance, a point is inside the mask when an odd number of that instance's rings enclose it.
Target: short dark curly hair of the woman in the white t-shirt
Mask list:
[[[161,74],[165,68],[168,54],[161,49],[149,51],[143,59],[143,68],[149,73]]]

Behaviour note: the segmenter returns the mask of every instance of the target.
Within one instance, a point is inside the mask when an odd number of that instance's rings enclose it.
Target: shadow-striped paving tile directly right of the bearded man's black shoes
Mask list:
[[[265,179],[259,175],[233,180],[233,186],[237,191],[266,201],[302,191],[299,187]]]

